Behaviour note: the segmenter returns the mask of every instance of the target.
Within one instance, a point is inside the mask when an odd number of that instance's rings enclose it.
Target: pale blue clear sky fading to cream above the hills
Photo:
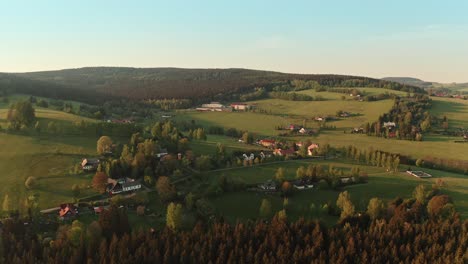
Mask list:
[[[249,68],[468,82],[465,0],[0,0],[0,72]]]

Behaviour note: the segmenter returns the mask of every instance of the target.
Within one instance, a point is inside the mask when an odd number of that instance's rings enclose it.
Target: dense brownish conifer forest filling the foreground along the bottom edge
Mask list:
[[[6,221],[4,263],[466,263],[468,221],[457,216],[405,222],[418,207],[395,206],[390,220],[347,218],[327,228],[318,222],[229,225],[221,219],[191,231],[130,232],[117,207],[88,227],[62,226],[55,240],[40,238],[22,221]],[[2,262],[3,263],[3,262]]]

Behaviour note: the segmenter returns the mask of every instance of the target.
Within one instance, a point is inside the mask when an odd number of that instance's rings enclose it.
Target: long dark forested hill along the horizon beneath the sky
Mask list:
[[[66,93],[81,91],[77,98],[93,96],[147,98],[190,98],[195,100],[229,100],[239,94],[253,91],[255,87],[283,85],[292,80],[311,80],[330,87],[382,87],[394,90],[424,92],[422,89],[395,82],[366,77],[287,74],[247,69],[181,69],[181,68],[123,68],[88,67],[59,71],[18,73],[3,75],[18,77],[26,86],[26,80],[39,81],[39,87],[47,86],[48,93],[63,97]],[[0,75],[0,89],[5,86]],[[21,85],[16,89],[22,91]],[[30,91],[30,88],[23,90]],[[42,88],[35,91],[40,95]],[[64,94],[63,90],[66,91]],[[64,98],[66,99],[66,98]],[[89,99],[87,99],[89,100]]]

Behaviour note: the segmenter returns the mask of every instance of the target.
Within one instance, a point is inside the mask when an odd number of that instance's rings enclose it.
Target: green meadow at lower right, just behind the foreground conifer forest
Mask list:
[[[225,175],[229,178],[242,180],[247,183],[261,183],[271,179],[278,167],[285,169],[285,176],[288,179],[293,179],[296,169],[301,166],[307,166],[309,162],[289,162],[284,164],[272,164],[260,167],[239,168],[223,172],[212,172],[205,177],[216,178]],[[350,170],[353,164],[340,162],[313,161],[313,163],[332,164],[335,168]],[[454,204],[457,210],[462,214],[462,217],[468,217],[468,179],[463,175],[445,173],[441,171],[425,170],[433,174],[432,179],[419,179],[410,176],[406,173],[392,174],[385,172],[382,168],[360,166],[362,170],[369,173],[369,182],[366,184],[350,185],[344,188],[351,194],[356,210],[366,210],[369,200],[373,197],[378,197],[384,201],[389,201],[399,196],[402,198],[410,198],[414,188],[419,184],[424,184],[428,189],[437,178],[442,178],[445,186],[443,192],[449,194],[454,199]],[[404,168],[402,168],[404,169]],[[320,185],[318,189],[297,191],[289,198],[291,210],[289,217],[297,219],[301,216],[320,217],[324,221],[330,223],[336,222],[336,218],[327,216],[324,213],[319,213],[317,209],[325,203],[335,203],[339,191],[330,190],[328,187]],[[225,216],[229,221],[236,221],[237,218],[249,219],[258,217],[258,211],[262,199],[271,201],[273,211],[282,209],[282,199],[279,195],[262,194],[256,192],[233,192],[223,194],[222,196],[213,198],[211,202],[217,208],[218,212]],[[315,210],[310,209],[311,204],[314,204]]]

